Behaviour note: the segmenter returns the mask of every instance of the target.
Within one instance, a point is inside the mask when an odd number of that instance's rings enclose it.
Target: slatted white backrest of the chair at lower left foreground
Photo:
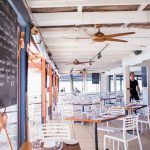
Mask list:
[[[41,125],[42,139],[70,140],[69,125],[65,123],[49,123]]]

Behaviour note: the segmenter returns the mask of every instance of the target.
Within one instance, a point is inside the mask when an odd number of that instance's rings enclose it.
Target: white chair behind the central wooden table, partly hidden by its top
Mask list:
[[[110,107],[107,111],[107,113],[113,114],[113,115],[124,115],[125,114],[125,109],[123,107]],[[119,118],[119,120],[122,120],[122,118]],[[117,132],[117,131],[122,131],[122,128],[118,127],[112,127],[109,126],[109,122],[107,122],[107,125],[102,125],[97,128],[98,131],[105,131],[107,133],[109,132]]]

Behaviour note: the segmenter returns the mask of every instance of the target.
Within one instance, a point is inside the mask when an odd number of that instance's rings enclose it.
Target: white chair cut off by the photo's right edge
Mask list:
[[[143,132],[143,124],[147,125],[150,129],[150,106],[145,108],[145,115],[144,116],[140,116],[138,122],[141,125],[141,133]]]

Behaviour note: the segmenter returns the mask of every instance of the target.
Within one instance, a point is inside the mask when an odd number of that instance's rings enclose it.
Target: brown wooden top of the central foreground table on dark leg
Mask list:
[[[81,122],[94,122],[94,123],[103,123],[107,121],[111,121],[114,119],[122,118],[125,117],[126,115],[112,115],[112,116],[102,116],[102,117],[97,117],[97,118],[85,118],[83,116],[72,116],[72,117],[66,117],[64,120],[70,120],[70,121],[81,121]]]

